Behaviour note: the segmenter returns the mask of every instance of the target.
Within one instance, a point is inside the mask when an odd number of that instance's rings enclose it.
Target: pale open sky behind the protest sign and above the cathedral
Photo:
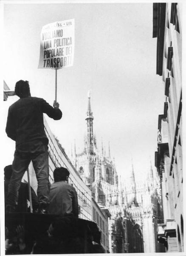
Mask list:
[[[3,79],[11,90],[28,80],[31,95],[51,105],[55,70],[37,69],[42,26],[75,19],[73,67],[58,70],[60,121],[48,120],[66,153],[76,140],[83,149],[87,93],[91,90],[93,131],[101,148],[115,157],[119,175],[140,176],[154,165],[158,114],[163,113],[164,86],[156,75],[157,38],[152,38],[152,3],[59,3],[4,5]],[[3,127],[9,105],[3,102]],[[11,164],[14,142],[4,132],[3,164]],[[6,151],[5,151],[6,152]]]

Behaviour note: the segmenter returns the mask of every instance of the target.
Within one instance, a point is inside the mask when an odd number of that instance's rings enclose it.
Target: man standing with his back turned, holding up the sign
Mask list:
[[[44,99],[31,97],[28,81],[18,81],[15,85],[15,93],[20,99],[9,107],[6,124],[7,136],[16,142],[6,211],[15,211],[21,179],[32,161],[38,182],[39,212],[45,213],[48,207],[50,183],[48,138],[44,130],[43,113],[54,120],[59,120],[62,112],[59,110],[59,103],[55,101],[53,108]]]

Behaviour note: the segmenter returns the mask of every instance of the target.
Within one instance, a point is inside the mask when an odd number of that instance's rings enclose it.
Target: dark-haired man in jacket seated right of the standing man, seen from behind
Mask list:
[[[49,236],[67,235],[76,230],[78,218],[78,198],[76,189],[67,183],[70,172],[64,167],[54,170],[54,183],[49,194],[48,213],[60,215],[49,227]]]

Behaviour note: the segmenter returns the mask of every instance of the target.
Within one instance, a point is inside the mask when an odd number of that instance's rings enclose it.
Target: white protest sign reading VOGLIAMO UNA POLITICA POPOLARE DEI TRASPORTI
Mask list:
[[[38,68],[73,66],[74,19],[56,21],[42,27]]]

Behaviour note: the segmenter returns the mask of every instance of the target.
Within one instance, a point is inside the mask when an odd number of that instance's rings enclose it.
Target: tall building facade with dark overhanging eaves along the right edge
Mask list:
[[[163,224],[158,240],[166,252],[183,252],[182,155],[182,5],[153,4],[153,37],[157,38],[157,70],[162,77],[165,102],[158,116],[155,166],[161,178]]]

